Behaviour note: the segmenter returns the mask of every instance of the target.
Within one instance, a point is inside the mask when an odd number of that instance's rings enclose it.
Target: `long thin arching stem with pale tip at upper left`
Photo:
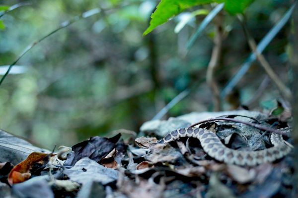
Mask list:
[[[78,21],[78,20],[80,20],[82,18],[87,18],[87,17],[92,16],[94,14],[97,14],[99,12],[100,12],[100,9],[94,8],[94,9],[91,9],[91,10],[88,10],[88,11],[82,13],[79,16],[75,16],[72,20],[68,20],[68,21],[65,21],[65,22],[61,23],[61,25],[57,29],[55,29],[54,31],[50,32],[49,34],[47,34],[46,36],[42,37],[41,39],[35,41],[31,45],[27,46],[27,48],[25,48],[23,50],[23,52],[18,56],[18,58],[13,63],[11,63],[9,65],[6,73],[3,75],[3,77],[0,80],[0,85],[2,84],[3,80],[5,79],[5,77],[9,74],[9,71],[11,70],[11,68],[13,67],[13,65],[15,65],[17,63],[17,61],[19,61],[19,59],[21,59],[21,57],[23,57],[23,55],[25,55],[30,49],[32,49],[34,46],[36,46],[42,40],[44,40],[47,37],[51,36],[52,34],[58,32],[59,30],[68,27],[69,25],[73,24],[74,22],[76,22],[76,21]]]

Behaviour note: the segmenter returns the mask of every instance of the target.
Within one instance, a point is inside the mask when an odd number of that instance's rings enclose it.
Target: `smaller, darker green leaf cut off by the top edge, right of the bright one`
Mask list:
[[[243,13],[254,0],[224,0],[224,9],[230,14]]]

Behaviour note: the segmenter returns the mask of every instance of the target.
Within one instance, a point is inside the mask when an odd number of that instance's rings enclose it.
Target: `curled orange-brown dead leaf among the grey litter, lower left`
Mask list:
[[[8,183],[10,185],[15,184],[15,183],[20,183],[23,181],[26,181],[27,179],[30,178],[31,173],[30,169],[34,163],[37,163],[38,161],[44,159],[46,156],[49,156],[51,154],[49,153],[43,153],[43,152],[32,152],[29,154],[27,159],[24,161],[18,163],[15,165],[9,175],[8,175]]]

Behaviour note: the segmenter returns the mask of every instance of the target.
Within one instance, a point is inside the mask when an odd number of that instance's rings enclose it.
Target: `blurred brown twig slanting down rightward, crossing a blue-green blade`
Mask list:
[[[242,16],[242,17],[241,17]],[[242,28],[244,30],[248,45],[250,49],[254,52],[254,54],[257,57],[257,60],[260,62],[261,66],[265,69],[268,76],[271,78],[271,80],[276,84],[277,88],[281,92],[281,94],[288,100],[292,98],[291,91],[287,88],[286,85],[281,81],[281,79],[278,77],[278,75],[274,72],[266,58],[263,56],[262,53],[260,53],[257,49],[257,45],[253,37],[250,35],[248,28],[246,26],[246,20],[244,15],[238,15],[238,18],[241,22]]]

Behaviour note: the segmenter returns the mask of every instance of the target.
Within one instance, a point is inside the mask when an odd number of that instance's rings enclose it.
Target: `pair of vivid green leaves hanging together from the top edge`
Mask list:
[[[243,13],[245,8],[253,2],[253,0],[161,0],[156,10],[151,15],[150,25],[145,30],[147,35],[157,26],[167,22],[171,17],[176,16],[183,10],[201,4],[222,3],[224,9],[230,14]]]

